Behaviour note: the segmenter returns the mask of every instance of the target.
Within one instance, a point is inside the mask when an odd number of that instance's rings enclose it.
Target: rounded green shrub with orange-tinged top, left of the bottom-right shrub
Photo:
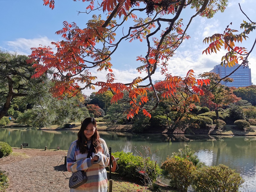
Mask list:
[[[187,191],[192,184],[196,167],[188,159],[174,156],[167,159],[161,165],[163,176],[170,180],[170,185],[179,191]]]

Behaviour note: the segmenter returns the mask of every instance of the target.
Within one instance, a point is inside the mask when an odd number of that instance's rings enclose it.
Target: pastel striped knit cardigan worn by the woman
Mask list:
[[[87,182],[78,188],[70,188],[70,192],[107,192],[108,179],[105,167],[108,166],[109,154],[106,142],[100,139],[101,147],[103,150],[98,153],[92,153],[92,156],[99,156],[97,162],[91,162],[92,157],[87,158],[87,153],[81,154],[80,150],[76,148],[76,141],[71,143],[67,155],[67,169],[68,172],[86,171]],[[87,142],[90,148],[90,141]]]

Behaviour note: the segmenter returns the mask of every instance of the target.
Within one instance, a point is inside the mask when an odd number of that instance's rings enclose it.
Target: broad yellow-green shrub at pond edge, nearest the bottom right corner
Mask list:
[[[196,170],[192,187],[198,192],[236,192],[243,183],[240,174],[220,164]]]

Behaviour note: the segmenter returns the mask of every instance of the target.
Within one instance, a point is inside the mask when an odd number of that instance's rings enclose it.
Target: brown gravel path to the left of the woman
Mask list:
[[[1,170],[9,172],[6,191],[69,191],[67,177],[71,173],[64,165],[66,154],[64,150],[13,149],[12,155],[0,158]]]

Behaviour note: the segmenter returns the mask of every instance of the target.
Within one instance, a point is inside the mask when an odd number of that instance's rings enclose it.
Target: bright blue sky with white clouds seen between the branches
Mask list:
[[[226,26],[232,22],[231,28],[238,29],[240,23],[247,18],[239,9],[238,3],[252,21],[256,21],[255,0],[229,0],[228,7],[224,13],[218,12],[213,19],[197,17],[192,21],[187,34],[191,36],[189,40],[183,42],[176,54],[169,60],[169,72],[172,75],[185,76],[189,69],[193,69],[196,75],[210,71],[215,65],[220,64],[221,57],[225,54],[222,50],[218,54],[202,55],[202,51],[207,47],[203,44],[203,39],[214,33],[222,33]],[[0,48],[19,54],[30,54],[31,47],[38,47],[39,44],[50,45],[52,41],[61,40],[61,36],[55,32],[61,29],[62,22],[76,22],[80,28],[84,28],[91,15],[77,14],[77,11],[85,11],[87,3],[73,2],[73,0],[55,0],[55,8],[43,6],[42,0],[0,0]],[[183,18],[184,28],[194,10],[185,10],[180,18]],[[105,15],[101,12],[102,16]],[[247,20],[248,21],[248,20]],[[127,26],[126,26],[127,27]],[[118,35],[118,34],[117,34]],[[249,36],[244,47],[250,48],[256,37],[256,32]],[[127,83],[137,76],[142,76],[136,72],[140,66],[136,62],[136,56],[145,55],[147,47],[145,43],[123,42],[119,50],[112,56],[114,74],[117,82]],[[252,71],[252,82],[256,84],[256,48],[249,57],[249,66]],[[98,81],[104,81],[106,73],[93,75],[98,76]],[[157,71],[152,77],[153,80],[163,79]],[[84,90],[90,95],[92,90]]]

